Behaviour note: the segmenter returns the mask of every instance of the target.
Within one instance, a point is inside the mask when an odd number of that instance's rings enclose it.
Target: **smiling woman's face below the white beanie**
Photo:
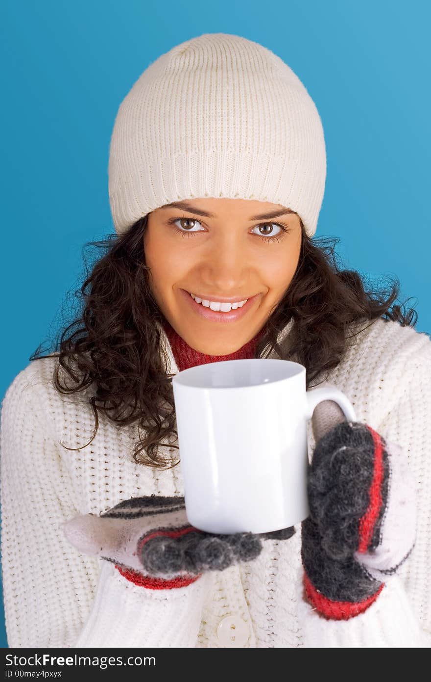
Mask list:
[[[206,355],[234,353],[264,327],[285,294],[298,265],[301,237],[298,215],[278,204],[227,198],[167,204],[149,213],[144,235],[153,295],[193,349]],[[208,319],[190,293],[209,301],[255,299],[237,319],[221,318],[223,312]]]

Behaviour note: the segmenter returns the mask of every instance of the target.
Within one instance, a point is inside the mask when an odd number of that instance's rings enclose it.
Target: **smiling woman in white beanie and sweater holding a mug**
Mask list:
[[[311,241],[325,172],[313,100],[254,42],[199,36],[133,85],[110,146],[118,237],[79,326],[3,401],[11,647],[430,644],[430,338]],[[172,376],[244,357],[300,362],[358,421],[315,410],[301,527],[199,534]]]

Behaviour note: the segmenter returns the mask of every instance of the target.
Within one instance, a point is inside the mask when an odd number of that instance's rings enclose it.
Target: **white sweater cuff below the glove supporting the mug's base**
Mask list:
[[[101,561],[91,612],[75,647],[195,647],[204,597],[204,574],[177,589],[146,589]]]

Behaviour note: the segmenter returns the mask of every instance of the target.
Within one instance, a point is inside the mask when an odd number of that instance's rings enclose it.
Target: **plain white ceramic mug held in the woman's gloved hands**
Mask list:
[[[308,419],[334,400],[357,420],[340,390],[306,391],[305,380],[297,362],[266,358],[211,362],[172,378],[191,525],[267,533],[308,516]]]

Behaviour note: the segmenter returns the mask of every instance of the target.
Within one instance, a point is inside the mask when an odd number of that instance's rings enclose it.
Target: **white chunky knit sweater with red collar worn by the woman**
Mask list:
[[[290,328],[291,323],[279,340]],[[160,326],[160,332],[170,361],[167,372],[226,359],[196,354],[169,325]],[[253,357],[256,340],[227,358]],[[119,427],[104,415],[86,445],[94,427],[91,387],[58,394],[52,385],[56,361],[33,361],[19,372],[1,409],[1,559],[10,647],[430,646],[428,335],[374,321],[357,334],[326,382],[346,394],[358,421],[404,449],[417,481],[415,548],[376,602],[348,621],[328,621],[306,602],[300,529],[289,541],[264,542],[251,563],[204,574],[176,590],[143,589],[112,565],[103,578],[110,583],[110,599],[102,599],[103,560],[71,546],[62,522],[78,513],[99,514],[133,496],[182,495],[181,468],[161,471],[135,464],[137,426]],[[308,439],[311,456],[310,423]],[[169,447],[165,450],[169,454]],[[226,636],[232,623],[238,635],[234,644]]]

